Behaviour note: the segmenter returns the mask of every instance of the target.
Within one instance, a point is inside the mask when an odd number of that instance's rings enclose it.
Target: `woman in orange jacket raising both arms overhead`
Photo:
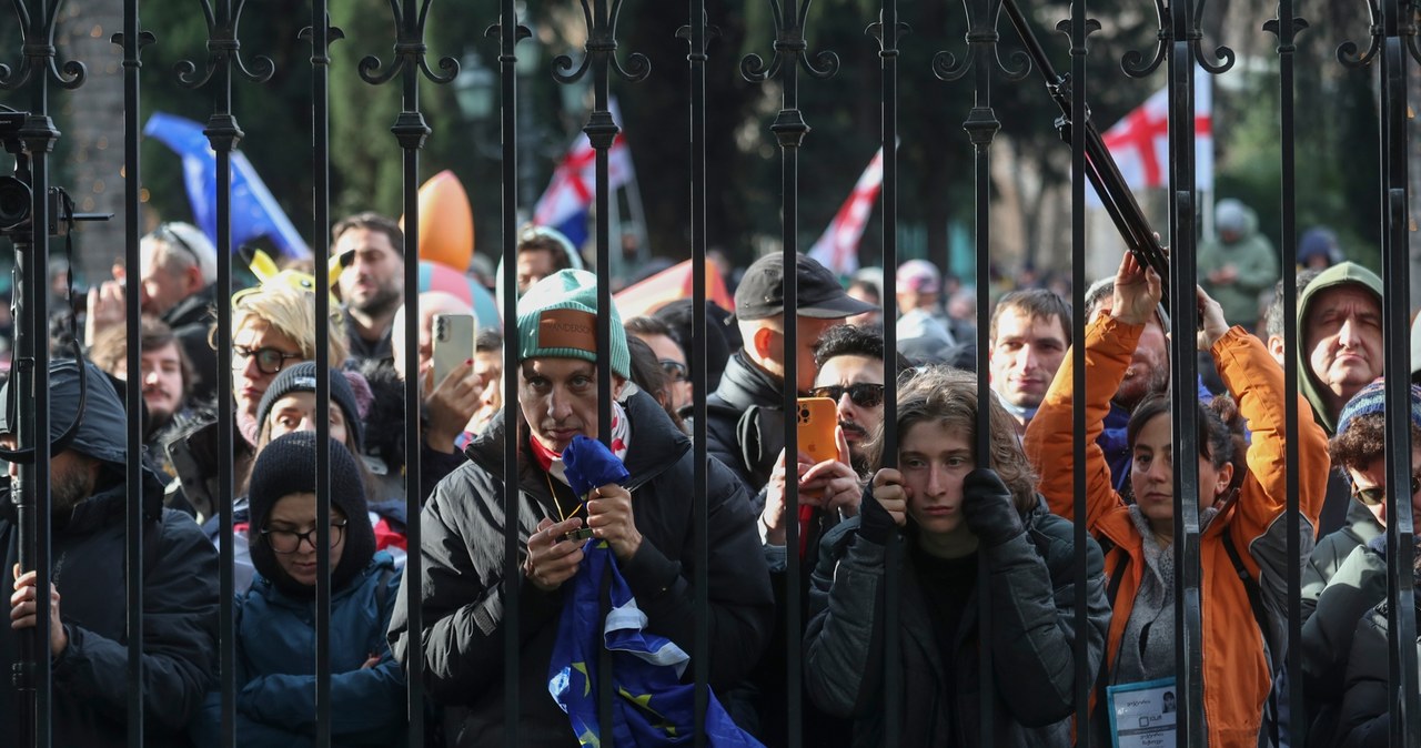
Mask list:
[[[1168,686],[1175,674],[1177,639],[1168,400],[1145,400],[1130,419],[1127,440],[1134,504],[1127,504],[1111,488],[1110,467],[1096,446],[1110,399],[1128,376],[1135,343],[1158,301],[1160,277],[1145,273],[1127,254],[1115,275],[1111,311],[1103,312],[1086,329],[1086,368],[1090,372],[1086,379],[1086,522],[1108,549],[1106,573],[1114,589],[1114,617],[1106,643],[1108,670],[1104,687],[1094,694],[1097,705],[1106,708],[1098,710],[1097,717],[1110,713],[1107,687],[1140,688],[1137,701],[1152,698],[1151,688],[1161,701],[1165,690],[1171,695],[1174,691]],[[1299,468],[1290,473],[1300,481],[1303,552],[1300,558],[1289,558],[1283,521],[1289,473],[1283,463],[1283,372],[1258,338],[1228,326],[1219,305],[1204,291],[1198,292],[1198,302],[1204,319],[1199,349],[1214,356],[1219,376],[1252,431],[1248,474],[1235,480],[1232,434],[1211,409],[1199,409],[1204,722],[1211,747],[1252,748],[1258,745],[1263,703],[1272,688],[1275,669],[1270,663],[1279,663],[1286,650],[1287,569],[1302,566],[1312,551],[1327,478],[1327,440],[1312,419],[1299,423]],[[1042,493],[1052,511],[1066,518],[1074,518],[1073,379],[1071,368],[1063,366],[1026,430],[1026,454],[1042,474]],[[1297,412],[1309,413],[1306,400],[1299,400]],[[1236,552],[1236,562],[1231,549]],[[1249,588],[1258,592],[1262,610],[1250,603]],[[1104,722],[1097,720],[1097,730],[1111,730]],[[1101,737],[1108,739],[1106,734]]]

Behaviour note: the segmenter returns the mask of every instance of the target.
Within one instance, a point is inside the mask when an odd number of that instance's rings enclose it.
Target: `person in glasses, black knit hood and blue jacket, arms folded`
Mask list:
[[[405,684],[385,643],[399,573],[365,512],[355,458],[328,440],[331,512],[315,514],[315,434],[273,440],[252,474],[249,544],[257,576],[237,598],[237,744],[303,745],[315,735],[317,524],[330,529],[331,732],[338,745],[396,745],[405,730]],[[220,693],[195,725],[216,745]]]

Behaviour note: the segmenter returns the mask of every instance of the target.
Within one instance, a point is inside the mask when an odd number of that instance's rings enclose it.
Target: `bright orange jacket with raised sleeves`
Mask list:
[[[1111,673],[1120,657],[1121,636],[1145,568],[1144,539],[1130,511],[1111,488],[1110,467],[1096,446],[1110,399],[1130,366],[1142,325],[1128,325],[1101,315],[1086,329],[1086,521],[1087,529],[1113,551],[1106,556],[1108,575],[1124,573],[1115,596],[1106,653]],[[1262,630],[1249,605],[1243,582],[1233,571],[1223,545],[1228,529],[1243,566],[1258,581],[1268,625],[1275,642],[1286,646],[1287,569],[1302,566],[1312,551],[1317,512],[1327,483],[1327,439],[1299,397],[1299,470],[1302,507],[1302,556],[1287,556],[1283,372],[1258,338],[1242,328],[1229,329],[1211,351],[1219,376],[1239,403],[1252,431],[1249,474],[1238,498],[1204,529],[1199,538],[1204,619],[1204,721],[1214,748],[1253,748],[1262,724],[1263,701],[1272,687]],[[1074,518],[1071,460],[1076,434],[1071,422],[1074,376],[1061,366],[1040,410],[1026,430],[1026,454],[1042,474],[1042,494],[1052,511]],[[1101,698],[1104,694],[1096,694]]]

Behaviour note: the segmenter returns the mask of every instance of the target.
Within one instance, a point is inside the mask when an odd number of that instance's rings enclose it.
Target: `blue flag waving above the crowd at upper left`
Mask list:
[[[182,156],[183,183],[192,204],[193,223],[213,244],[217,243],[217,156],[202,125],[192,119],[153,112],[144,135],[158,138]],[[252,162],[240,150],[232,152],[232,247],[267,237],[286,257],[306,260],[311,248],[276,204]]]

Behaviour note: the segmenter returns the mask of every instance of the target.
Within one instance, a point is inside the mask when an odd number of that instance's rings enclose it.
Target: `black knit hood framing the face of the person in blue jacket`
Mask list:
[[[345,548],[341,561],[331,571],[331,590],[344,589],[369,563],[375,555],[375,531],[369,527],[369,512],[365,507],[365,485],[361,481],[355,458],[345,444],[331,439],[331,505],[345,515]],[[293,598],[313,598],[314,586],[306,586],[291,579],[276,562],[276,552],[261,535],[271,507],[291,494],[315,493],[315,431],[293,431],[284,434],[257,454],[252,467],[252,484],[247,501],[252,507],[252,525],[247,542],[252,546],[252,565],[281,592]]]

